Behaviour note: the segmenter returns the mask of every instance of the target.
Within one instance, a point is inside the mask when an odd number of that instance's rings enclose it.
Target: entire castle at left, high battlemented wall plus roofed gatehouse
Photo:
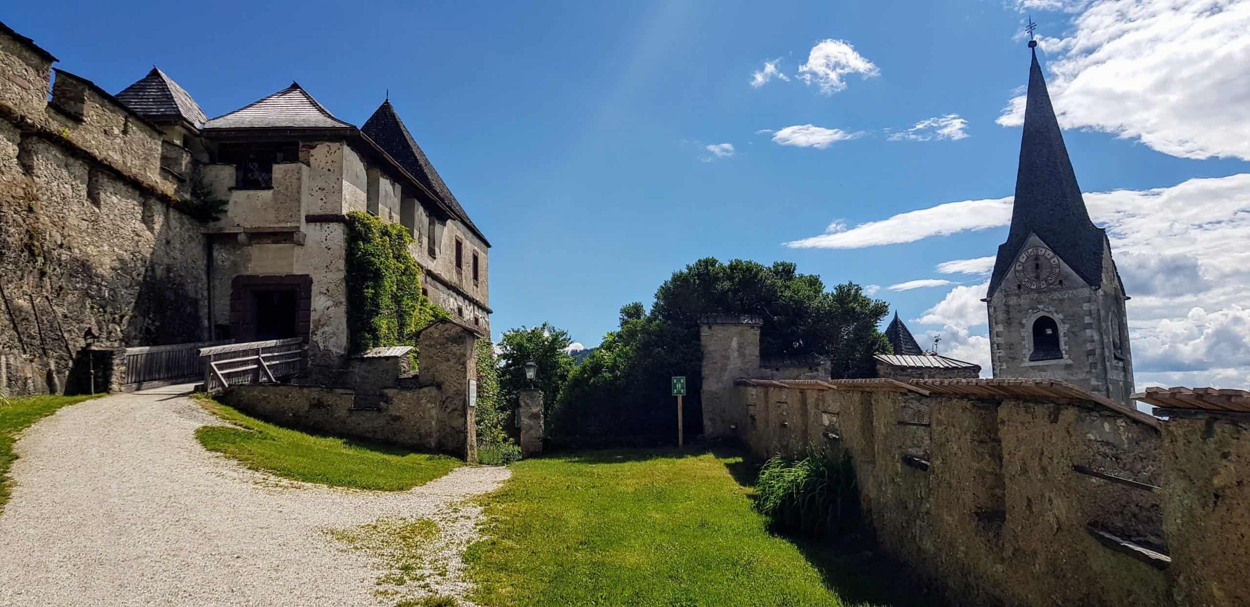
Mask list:
[[[490,242],[389,100],[358,129],[292,82],[210,119],[160,69],[112,95],[56,61],[0,22],[0,390],[221,340],[344,368],[352,211],[402,225],[422,292],[489,335]]]

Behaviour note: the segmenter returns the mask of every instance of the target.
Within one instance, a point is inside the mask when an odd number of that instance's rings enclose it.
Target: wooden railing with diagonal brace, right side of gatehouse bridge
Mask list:
[[[204,391],[209,393],[239,383],[278,382],[306,367],[308,346],[300,337],[200,348]]]

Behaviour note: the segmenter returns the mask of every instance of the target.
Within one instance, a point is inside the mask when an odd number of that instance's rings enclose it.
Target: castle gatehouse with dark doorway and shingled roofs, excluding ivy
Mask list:
[[[118,100],[162,127],[162,169],[185,177],[191,197],[226,201],[205,229],[212,338],[306,337],[322,358],[345,352],[351,211],[402,224],[424,292],[489,331],[490,244],[389,99],[356,129],[291,82],[208,120],[154,67]]]

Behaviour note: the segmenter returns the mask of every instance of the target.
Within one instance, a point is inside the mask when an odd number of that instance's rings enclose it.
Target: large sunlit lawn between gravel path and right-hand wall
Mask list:
[[[512,465],[465,561],[485,606],[908,605],[876,565],[768,531],[734,452],[600,451]]]

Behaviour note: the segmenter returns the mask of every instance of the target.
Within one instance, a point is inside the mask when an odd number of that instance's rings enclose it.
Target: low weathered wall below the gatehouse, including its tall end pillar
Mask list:
[[[239,385],[225,402],[275,423],[335,436],[401,445],[422,451],[478,460],[476,411],[470,381],[476,380],[474,345],[478,336],[451,321],[421,331],[420,372],[384,381],[386,367],[402,371],[390,358],[354,360],[341,378],[358,385]],[[314,377],[315,378],[315,377]]]

